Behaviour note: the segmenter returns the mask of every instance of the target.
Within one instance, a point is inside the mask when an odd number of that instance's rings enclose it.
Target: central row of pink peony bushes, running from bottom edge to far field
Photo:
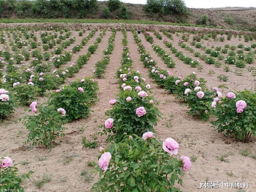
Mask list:
[[[109,118],[100,126],[108,134],[106,149],[100,147],[98,168],[100,179],[93,185],[96,191],[180,191],[176,181],[191,167],[189,157],[178,155],[178,143],[173,138],[161,141],[154,133],[160,117],[154,98],[148,94],[150,85],[139,71],[132,70],[127,47],[126,30],[122,29],[123,53],[117,70],[120,91],[109,101]]]

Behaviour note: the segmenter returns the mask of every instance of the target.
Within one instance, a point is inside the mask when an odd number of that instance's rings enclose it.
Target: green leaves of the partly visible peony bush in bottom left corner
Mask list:
[[[0,159],[1,163],[1,159]],[[24,179],[29,179],[33,171],[29,171],[27,174],[18,174],[18,168],[16,166],[11,166],[9,168],[0,167],[0,189],[3,191],[24,191],[21,183]]]

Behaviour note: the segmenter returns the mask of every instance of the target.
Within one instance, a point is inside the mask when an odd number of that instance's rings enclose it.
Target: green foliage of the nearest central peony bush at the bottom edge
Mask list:
[[[182,185],[182,161],[163,151],[156,138],[144,140],[137,135],[111,144],[109,168],[99,167],[100,180],[93,185],[96,191],[172,191],[179,192],[176,181]],[[113,179],[118,177],[119,179]],[[120,185],[122,183],[122,185]]]

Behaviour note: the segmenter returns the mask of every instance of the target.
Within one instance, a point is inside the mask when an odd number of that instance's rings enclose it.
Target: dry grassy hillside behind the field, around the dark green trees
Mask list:
[[[33,1],[31,1],[33,3]],[[89,11],[82,18],[104,18],[104,7],[107,2],[98,2],[96,11]],[[242,29],[256,31],[256,8],[254,7],[223,7],[210,9],[188,9],[187,15],[150,15],[145,11],[145,5],[141,4],[126,4],[129,11],[129,19],[131,20],[155,20],[174,23],[197,24],[197,20],[202,15],[208,15],[208,25],[215,27],[224,27],[231,29]],[[15,8],[2,7],[4,9],[0,18],[39,18],[33,14],[32,8],[24,11],[24,14],[17,15]],[[63,18],[61,11],[51,10],[50,18]],[[69,11],[68,18],[81,18],[78,13]],[[118,19],[118,11],[109,13],[109,19]]]

